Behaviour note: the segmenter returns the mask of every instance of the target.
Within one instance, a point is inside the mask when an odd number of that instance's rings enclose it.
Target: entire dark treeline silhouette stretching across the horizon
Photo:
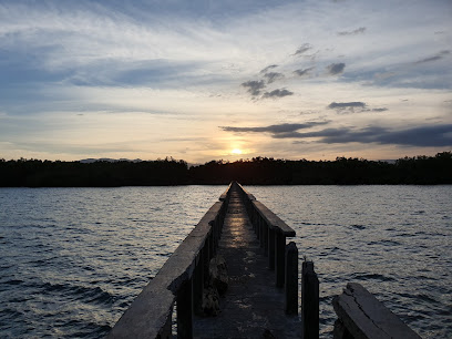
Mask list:
[[[184,161],[50,162],[0,160],[0,186],[109,187],[153,185],[362,185],[452,184],[452,152],[404,157],[394,163],[338,157],[289,161],[267,157],[212,161],[188,168]]]

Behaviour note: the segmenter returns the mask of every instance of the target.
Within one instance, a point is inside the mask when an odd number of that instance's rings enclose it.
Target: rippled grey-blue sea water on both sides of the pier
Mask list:
[[[103,337],[225,186],[0,189],[0,337]],[[347,281],[452,333],[452,186],[246,187],[297,230],[321,331]]]

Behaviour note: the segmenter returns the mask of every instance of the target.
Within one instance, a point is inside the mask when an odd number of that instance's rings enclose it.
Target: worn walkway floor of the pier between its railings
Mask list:
[[[300,338],[299,318],[286,316],[285,290],[276,287],[237,189],[230,194],[217,253],[228,266],[228,290],[220,298],[218,316],[195,317],[194,337]]]

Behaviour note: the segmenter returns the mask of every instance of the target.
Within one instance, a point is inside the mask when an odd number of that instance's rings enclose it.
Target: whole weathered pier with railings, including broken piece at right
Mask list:
[[[319,338],[319,280],[304,261],[299,290],[295,236],[233,182],[107,338]],[[420,338],[359,284],[333,307],[335,338]]]

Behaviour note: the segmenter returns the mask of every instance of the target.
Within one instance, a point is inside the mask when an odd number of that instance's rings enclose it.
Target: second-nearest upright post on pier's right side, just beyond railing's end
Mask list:
[[[286,246],[286,315],[298,315],[298,248],[294,242]]]

